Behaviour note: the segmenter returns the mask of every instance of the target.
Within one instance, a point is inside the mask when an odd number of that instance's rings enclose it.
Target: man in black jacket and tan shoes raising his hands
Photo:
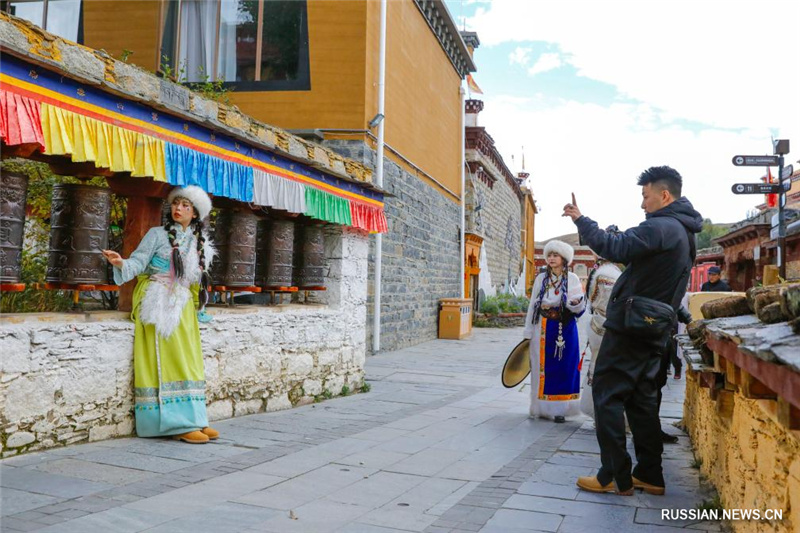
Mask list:
[[[681,196],[683,179],[676,170],[651,167],[642,172],[638,184],[646,220],[624,233],[601,230],[581,214],[574,201],[564,206],[564,216],[575,222],[582,242],[598,255],[626,265],[611,293],[608,317],[619,315],[615,311],[631,296],[651,298],[677,310],[694,264],[694,234],[703,225],[700,214]],[[634,487],[664,494],[656,378],[671,328],[662,337],[642,339],[626,333],[624,325],[610,322],[606,322],[592,383],[602,466],[597,476],[579,478],[578,486],[623,495],[633,494]],[[633,471],[623,413],[633,433],[637,461]]]

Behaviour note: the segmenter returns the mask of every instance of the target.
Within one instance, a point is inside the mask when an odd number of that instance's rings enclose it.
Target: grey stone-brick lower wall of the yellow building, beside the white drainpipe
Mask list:
[[[324,144],[374,168],[375,152],[361,141]],[[388,158],[383,188],[391,194],[385,200],[389,233],[383,236],[381,287],[381,350],[388,351],[435,339],[439,299],[459,296],[461,209]],[[375,239],[370,239],[368,350],[372,347],[374,246]]]

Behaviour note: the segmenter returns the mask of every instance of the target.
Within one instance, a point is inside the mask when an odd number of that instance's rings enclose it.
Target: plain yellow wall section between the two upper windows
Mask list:
[[[117,59],[128,58],[150,71],[158,65],[159,2],[92,0],[83,2],[83,43],[103,49]]]

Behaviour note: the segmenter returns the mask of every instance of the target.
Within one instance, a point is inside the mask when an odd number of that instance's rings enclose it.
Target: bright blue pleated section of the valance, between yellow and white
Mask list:
[[[197,185],[216,196],[253,201],[250,167],[166,143],[166,172],[172,185]]]

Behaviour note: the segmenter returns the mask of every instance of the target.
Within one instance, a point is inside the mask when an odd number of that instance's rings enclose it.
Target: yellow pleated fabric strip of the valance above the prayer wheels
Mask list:
[[[45,152],[94,162],[114,172],[167,181],[164,141],[42,103]]]

